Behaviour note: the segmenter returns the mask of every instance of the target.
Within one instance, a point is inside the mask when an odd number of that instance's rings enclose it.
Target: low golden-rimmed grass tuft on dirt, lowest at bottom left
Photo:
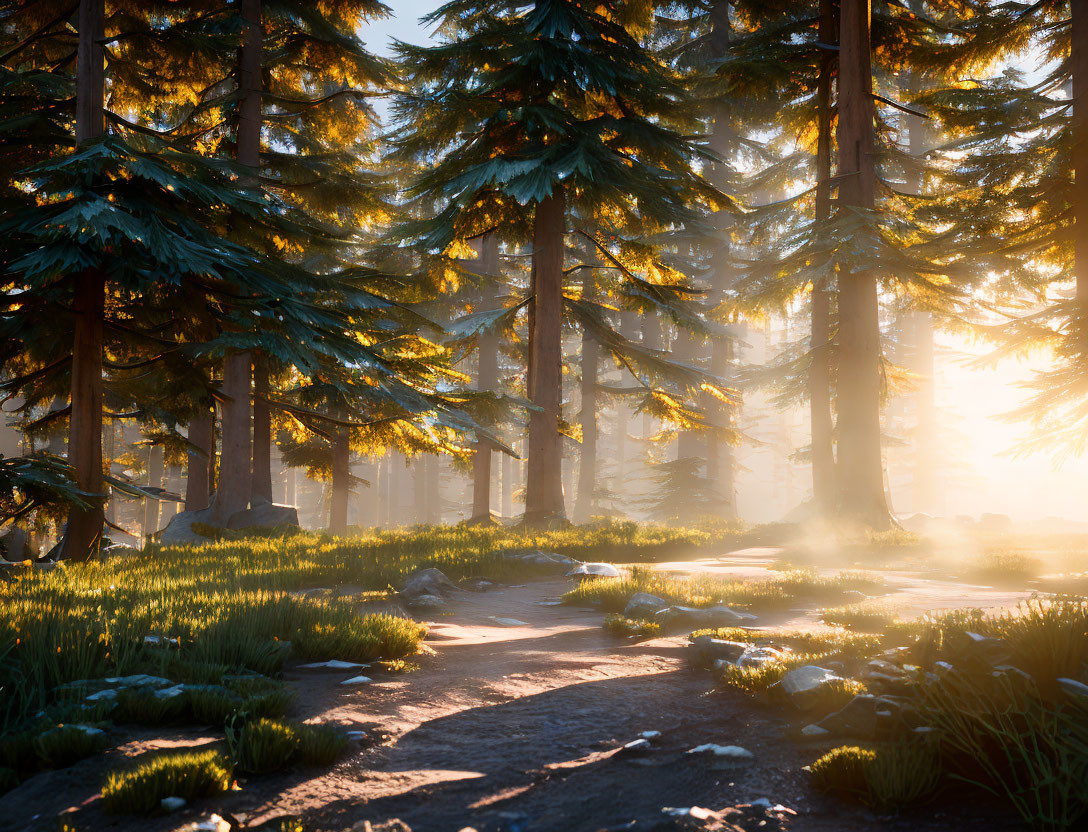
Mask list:
[[[102,809],[111,815],[152,815],[164,797],[195,800],[231,787],[230,760],[218,750],[157,754],[111,771],[102,786]]]

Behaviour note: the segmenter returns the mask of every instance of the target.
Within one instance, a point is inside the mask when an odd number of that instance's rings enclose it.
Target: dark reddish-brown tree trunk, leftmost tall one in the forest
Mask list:
[[[104,0],[81,0],[76,46],[75,138],[87,141],[106,132]],[[75,326],[72,339],[72,415],[69,463],[79,489],[92,494],[87,508],[73,507],[61,544],[61,558],[82,560],[98,550],[102,538],[102,359],[106,276],[89,270],[75,278]],[[99,496],[101,495],[101,496]]]

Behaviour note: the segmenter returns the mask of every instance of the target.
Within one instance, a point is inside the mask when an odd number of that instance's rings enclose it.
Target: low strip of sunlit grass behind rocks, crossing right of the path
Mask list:
[[[562,600],[571,605],[599,606],[605,612],[622,612],[632,595],[650,593],[688,607],[728,604],[745,609],[774,610],[802,599],[832,601],[851,591],[873,593],[882,589],[882,581],[861,572],[824,576],[798,570],[767,579],[733,580],[707,574],[677,578],[635,567],[619,579],[583,581],[564,595]]]

